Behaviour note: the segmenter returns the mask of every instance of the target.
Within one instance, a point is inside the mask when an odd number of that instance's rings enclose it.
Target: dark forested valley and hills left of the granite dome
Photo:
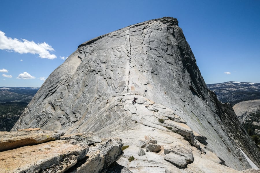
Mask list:
[[[0,131],[10,131],[39,88],[0,87]]]

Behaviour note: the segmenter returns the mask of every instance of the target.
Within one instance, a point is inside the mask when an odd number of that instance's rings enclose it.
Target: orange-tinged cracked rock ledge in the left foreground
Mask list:
[[[106,172],[122,155],[121,139],[92,133],[23,129],[0,132],[0,172]]]

